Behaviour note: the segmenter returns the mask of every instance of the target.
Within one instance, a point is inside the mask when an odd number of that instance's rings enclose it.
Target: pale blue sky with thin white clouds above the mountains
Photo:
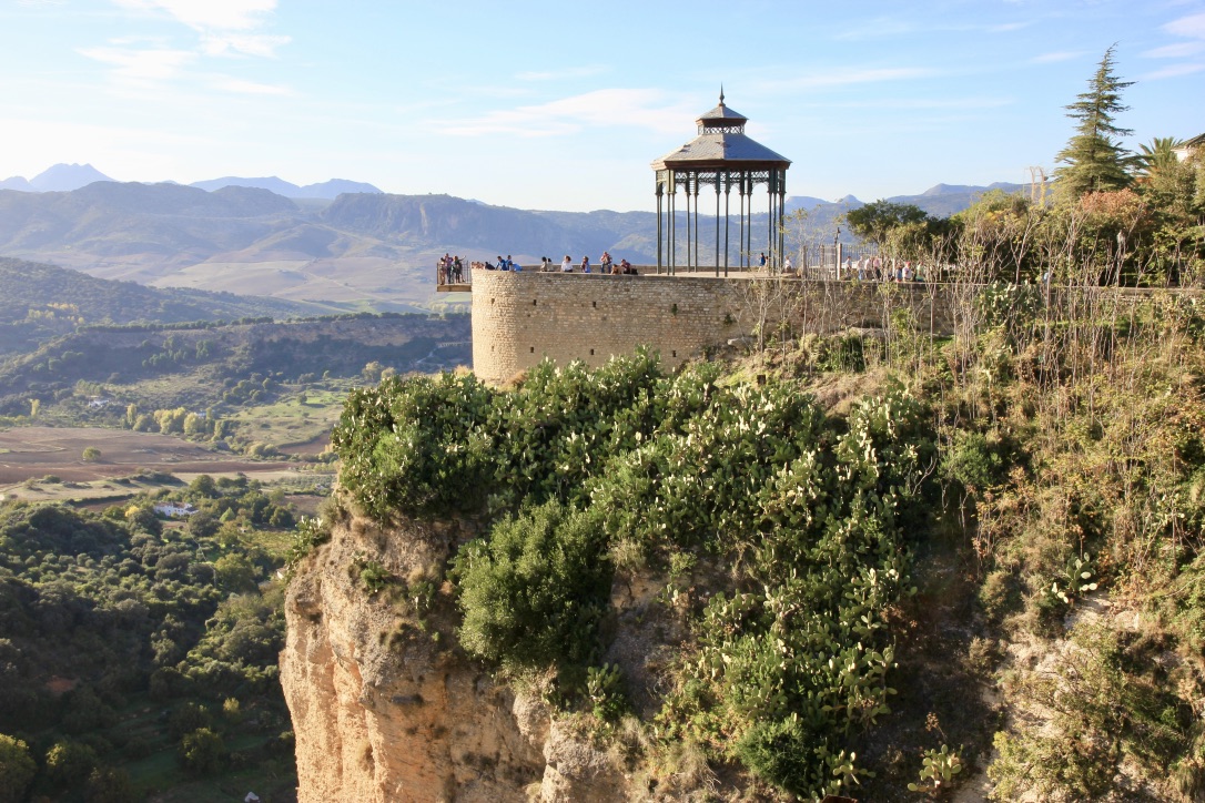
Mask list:
[[[1025,183],[1113,43],[1129,147],[1205,132],[1205,0],[0,0],[0,178],[651,211],[722,84],[788,195]]]

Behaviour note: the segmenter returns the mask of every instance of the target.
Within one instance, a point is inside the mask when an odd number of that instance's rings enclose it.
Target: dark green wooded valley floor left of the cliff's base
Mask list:
[[[281,590],[265,584],[283,547],[259,529],[293,514],[245,478],[170,498],[200,513],[177,527],[147,497],[99,515],[0,507],[0,777],[23,779],[7,799],[142,799],[217,770],[288,787]]]

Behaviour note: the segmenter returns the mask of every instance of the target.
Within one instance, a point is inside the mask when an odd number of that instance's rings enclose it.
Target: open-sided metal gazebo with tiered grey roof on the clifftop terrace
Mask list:
[[[677,194],[686,193],[686,268],[699,270],[699,189],[704,184],[716,188],[716,276],[721,266],[728,276],[729,261],[729,203],[735,188],[740,203],[737,230],[739,267],[745,270],[753,262],[753,189],[765,184],[769,201],[765,240],[757,237],[757,247],[763,243],[770,266],[782,258],[782,219],[787,201],[787,169],[790,160],[770,150],[745,134],[743,114],[724,105],[724,90],[719,90],[719,105],[700,117],[699,136],[677,150],[653,163],[657,175],[657,272],[662,267],[675,273],[677,268]],[[721,243],[721,205],[723,195],[723,243]],[[721,254],[723,258],[721,259]]]

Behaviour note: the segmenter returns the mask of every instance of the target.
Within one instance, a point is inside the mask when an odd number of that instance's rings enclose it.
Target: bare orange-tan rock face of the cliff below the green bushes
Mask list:
[[[607,755],[454,645],[446,584],[419,624],[405,589],[471,535],[464,524],[383,530],[349,519],[299,567],[281,683],[302,803],[628,799]],[[371,565],[398,581],[370,595],[360,572]]]

